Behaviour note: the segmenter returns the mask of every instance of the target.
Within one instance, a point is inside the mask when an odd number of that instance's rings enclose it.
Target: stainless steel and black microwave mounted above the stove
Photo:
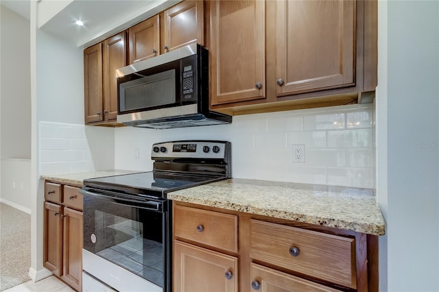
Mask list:
[[[171,128],[231,123],[209,110],[209,51],[192,44],[117,69],[117,121]]]

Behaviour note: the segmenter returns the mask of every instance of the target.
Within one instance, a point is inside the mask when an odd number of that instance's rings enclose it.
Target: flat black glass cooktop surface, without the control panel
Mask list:
[[[84,184],[89,187],[102,188],[108,191],[163,196],[169,191],[177,191],[182,188],[213,182],[219,179],[221,178],[149,171],[107,176],[104,178],[90,178],[84,180]]]

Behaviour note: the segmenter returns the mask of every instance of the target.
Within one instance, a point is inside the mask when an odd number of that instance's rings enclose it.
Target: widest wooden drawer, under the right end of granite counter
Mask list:
[[[254,219],[250,228],[252,258],[345,287],[357,287],[355,239]]]

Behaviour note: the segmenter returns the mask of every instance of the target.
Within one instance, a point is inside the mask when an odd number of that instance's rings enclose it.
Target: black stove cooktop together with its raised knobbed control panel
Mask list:
[[[230,143],[173,141],[152,145],[153,171],[84,180],[87,188],[166,198],[170,191],[230,178]]]

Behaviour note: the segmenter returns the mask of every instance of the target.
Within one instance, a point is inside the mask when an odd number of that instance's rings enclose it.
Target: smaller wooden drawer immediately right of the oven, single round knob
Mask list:
[[[238,251],[238,217],[184,206],[175,206],[174,235],[230,252]]]

